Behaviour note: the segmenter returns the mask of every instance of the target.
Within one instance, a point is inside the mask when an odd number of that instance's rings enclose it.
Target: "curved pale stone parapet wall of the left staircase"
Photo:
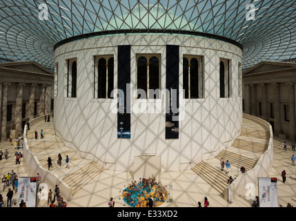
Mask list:
[[[50,117],[52,115],[50,114]],[[44,120],[44,115],[41,117],[37,117],[32,119],[29,123],[30,126],[36,124],[37,122],[41,122]],[[23,130],[23,168],[26,170],[28,176],[36,177],[37,173],[41,175],[41,183],[45,183],[48,186],[48,190],[55,189],[55,185],[59,186],[59,190],[61,195],[65,200],[72,200],[72,187],[68,186],[66,182],[63,182],[61,177],[44,169],[41,166],[39,160],[36,155],[30,151],[30,147],[28,146],[27,140],[27,125]]]

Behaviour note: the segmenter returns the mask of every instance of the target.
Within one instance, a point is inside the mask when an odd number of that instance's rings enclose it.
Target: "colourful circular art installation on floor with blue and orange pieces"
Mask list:
[[[133,207],[148,207],[150,197],[153,199],[153,207],[160,206],[168,198],[168,191],[161,182],[156,182],[155,178],[150,177],[132,182],[122,193],[124,202]]]

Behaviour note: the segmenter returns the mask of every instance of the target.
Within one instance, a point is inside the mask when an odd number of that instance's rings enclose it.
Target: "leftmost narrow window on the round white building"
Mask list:
[[[67,61],[67,97],[77,97],[77,59]]]

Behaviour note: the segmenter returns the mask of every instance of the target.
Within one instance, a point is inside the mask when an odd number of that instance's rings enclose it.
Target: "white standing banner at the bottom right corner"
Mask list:
[[[277,178],[258,177],[259,207],[278,207]]]

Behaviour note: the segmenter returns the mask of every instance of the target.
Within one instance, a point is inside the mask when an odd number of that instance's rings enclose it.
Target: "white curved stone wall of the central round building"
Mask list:
[[[114,85],[117,88],[117,46],[123,45],[130,45],[131,91],[137,86],[138,54],[160,55],[161,90],[166,88],[166,45],[179,46],[180,89],[183,88],[184,55],[202,57],[204,97],[184,100],[179,139],[165,139],[164,96],[149,100],[154,102],[154,108],[161,104],[161,113],[132,111],[131,138],[117,138],[117,114],[110,108],[114,99],[94,98],[93,85],[95,56],[113,55]],[[74,58],[77,59],[77,97],[67,97],[66,60]],[[230,60],[230,97],[227,98],[220,98],[220,59]],[[191,162],[233,140],[241,128],[241,49],[233,44],[185,35],[110,35],[63,44],[55,50],[55,62],[58,64],[55,70],[55,129],[69,146],[77,152],[95,156],[105,168],[133,171],[135,156],[155,154],[161,156],[162,171],[188,169]],[[132,97],[131,106],[136,104],[136,108],[143,108],[145,102],[148,104],[148,100],[141,101],[141,104],[136,102],[137,99]]]

